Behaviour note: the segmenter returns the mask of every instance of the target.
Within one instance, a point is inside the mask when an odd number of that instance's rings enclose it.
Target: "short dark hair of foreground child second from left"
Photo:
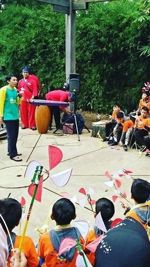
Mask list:
[[[52,214],[59,225],[69,224],[75,217],[76,209],[69,199],[61,198],[53,205]]]

